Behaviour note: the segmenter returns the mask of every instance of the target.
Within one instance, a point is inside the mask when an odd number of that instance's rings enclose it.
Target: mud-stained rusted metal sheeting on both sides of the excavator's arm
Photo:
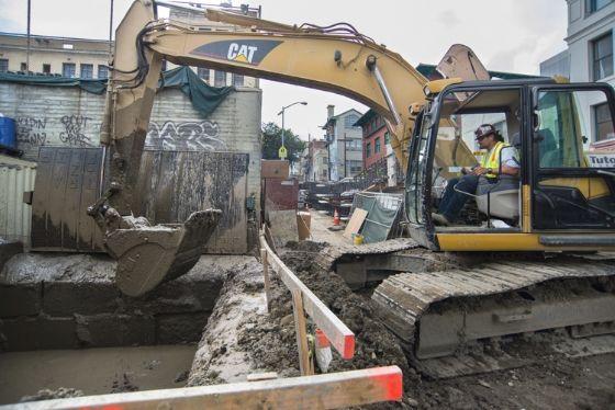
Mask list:
[[[99,197],[100,148],[41,148],[33,202],[33,250],[104,252],[86,209]],[[248,155],[144,151],[133,210],[152,224],[185,221],[192,212],[222,210],[208,253],[247,252]]]

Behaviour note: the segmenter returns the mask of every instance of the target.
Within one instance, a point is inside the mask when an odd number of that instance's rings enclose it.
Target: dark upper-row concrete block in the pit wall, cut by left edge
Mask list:
[[[0,318],[35,316],[40,311],[40,283],[0,285]]]

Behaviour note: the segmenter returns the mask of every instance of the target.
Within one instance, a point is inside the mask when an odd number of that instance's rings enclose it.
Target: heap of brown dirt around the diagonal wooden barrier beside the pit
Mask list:
[[[322,244],[309,241],[290,243],[281,250],[280,258],[355,332],[355,357],[345,361],[334,353],[328,372],[396,365],[404,374],[404,386],[415,388],[421,383],[420,377],[409,366],[396,339],[376,318],[376,306],[371,300],[354,294],[344,280],[314,263],[314,257],[321,249]],[[314,332],[313,328],[311,332]],[[256,322],[246,322],[237,341],[254,362],[268,371],[278,372],[281,377],[299,375],[291,295],[275,275],[270,315],[258,318]],[[404,403],[392,406],[413,403],[410,390],[406,396]]]

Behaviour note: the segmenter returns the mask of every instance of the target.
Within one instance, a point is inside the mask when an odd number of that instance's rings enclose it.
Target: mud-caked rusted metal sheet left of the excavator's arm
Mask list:
[[[42,147],[32,202],[32,249],[104,252],[87,208],[99,197],[100,148]]]

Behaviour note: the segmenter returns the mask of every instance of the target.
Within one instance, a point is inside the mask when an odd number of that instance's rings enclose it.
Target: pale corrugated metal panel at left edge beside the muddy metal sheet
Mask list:
[[[36,163],[0,156],[0,237],[30,246],[31,205],[23,193],[34,191]]]

